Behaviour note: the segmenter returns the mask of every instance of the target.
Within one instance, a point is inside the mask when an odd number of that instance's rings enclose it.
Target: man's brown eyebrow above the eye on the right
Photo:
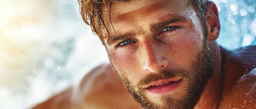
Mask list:
[[[169,24],[174,24],[174,23],[180,23],[180,22],[185,22],[188,21],[187,18],[183,17],[183,16],[176,16],[174,18],[168,19],[168,20],[164,20],[162,22],[156,23],[151,25],[151,31],[157,31],[159,29],[161,29],[162,27],[169,25]]]

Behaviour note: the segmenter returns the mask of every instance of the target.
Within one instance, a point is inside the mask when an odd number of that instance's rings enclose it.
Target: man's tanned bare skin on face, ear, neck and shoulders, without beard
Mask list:
[[[115,2],[112,5],[111,20],[116,35],[114,30],[111,30],[110,24],[106,23],[111,36],[110,40],[127,32],[133,35],[133,37],[126,37],[122,40],[110,41],[106,39],[104,42],[111,64],[120,78],[128,77],[133,84],[137,84],[145,75],[157,74],[162,69],[189,69],[191,62],[196,58],[196,54],[202,50],[204,32],[195,11],[181,4],[185,2],[173,1],[171,4],[169,2],[161,4],[160,2],[166,1]],[[152,31],[150,26],[168,19],[163,17],[167,13],[172,14],[171,16],[183,15],[189,20],[171,24],[172,26],[183,25],[181,29],[171,33],[165,32],[164,35],[160,35],[159,32],[164,27]],[[218,10],[212,2],[208,3],[206,21],[207,45],[213,55],[214,72],[212,77],[208,79],[203,94],[194,109],[255,109],[256,46],[234,51],[225,50],[218,46],[215,42],[220,30]],[[116,45],[127,39],[134,41],[125,47],[115,48]],[[172,93],[182,96],[188,85],[183,82]],[[147,95],[149,99],[154,98],[152,100],[154,103],[159,103],[158,96],[161,95],[150,92],[147,92]],[[71,98],[76,98],[76,100]],[[110,103],[108,103],[109,101]],[[141,109],[125,91],[109,65],[97,67],[85,76],[79,87],[68,89],[33,109],[45,108],[46,106],[50,106],[52,109],[60,109],[58,106],[73,109],[85,107],[86,109]]]

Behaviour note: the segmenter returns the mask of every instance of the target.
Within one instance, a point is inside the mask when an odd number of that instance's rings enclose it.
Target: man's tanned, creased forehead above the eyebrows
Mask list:
[[[122,25],[134,24],[134,22],[138,24],[134,26],[139,26],[140,23],[152,23],[152,21],[157,22],[163,18],[177,16],[186,17],[187,12],[189,9],[191,9],[187,3],[188,0],[131,0],[129,2],[118,1],[113,2],[111,5],[111,23],[109,20],[109,14],[106,11],[103,12],[103,18],[109,33],[113,34],[114,30],[118,30],[118,28],[122,27]],[[103,6],[102,8],[103,10],[107,10],[106,6]],[[148,19],[145,19],[145,16]],[[114,30],[112,25],[114,26]]]

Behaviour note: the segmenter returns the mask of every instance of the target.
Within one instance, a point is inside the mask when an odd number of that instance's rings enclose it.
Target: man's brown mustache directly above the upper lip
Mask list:
[[[142,86],[148,85],[152,82],[161,80],[161,79],[170,79],[174,77],[181,77],[181,78],[191,78],[191,75],[188,71],[185,70],[178,70],[178,69],[163,69],[159,73],[151,73],[147,74],[143,79],[139,81],[137,87],[142,89]]]

